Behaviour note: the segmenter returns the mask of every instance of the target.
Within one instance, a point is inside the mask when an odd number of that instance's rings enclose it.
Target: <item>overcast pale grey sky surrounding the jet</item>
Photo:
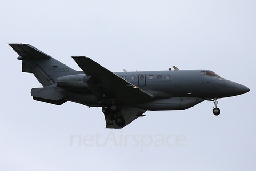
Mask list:
[[[255,1],[1,2],[1,170],[255,170],[255,9]],[[76,70],[76,55],[113,72],[209,69],[251,91],[219,99],[218,117],[204,101],[105,129],[100,108],[34,101],[31,88],[42,86],[7,43]]]

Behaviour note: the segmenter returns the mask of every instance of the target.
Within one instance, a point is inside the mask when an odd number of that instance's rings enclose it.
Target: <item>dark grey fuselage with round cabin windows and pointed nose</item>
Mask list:
[[[173,97],[210,100],[236,96],[250,90],[246,86],[224,79],[210,70],[136,71],[115,72],[115,74],[150,94],[151,101]],[[68,91],[70,95],[66,97],[66,100],[89,106],[104,105],[99,104],[86,84],[90,77],[85,74],[74,75],[74,77],[73,80],[77,82],[76,85],[80,85],[80,88],[78,88],[79,90],[70,89]]]

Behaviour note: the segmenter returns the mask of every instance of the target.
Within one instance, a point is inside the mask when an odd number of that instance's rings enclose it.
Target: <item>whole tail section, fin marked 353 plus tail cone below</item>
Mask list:
[[[44,88],[32,88],[34,100],[61,105],[65,103],[65,93],[56,87],[57,78],[66,75],[83,74],[75,71],[51,56],[29,44],[9,44],[22,60],[22,72],[33,73]]]

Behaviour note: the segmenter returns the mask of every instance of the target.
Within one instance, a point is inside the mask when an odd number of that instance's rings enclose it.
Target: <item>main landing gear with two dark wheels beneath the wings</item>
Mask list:
[[[103,109],[102,109],[103,110]],[[111,104],[110,106],[105,107],[104,109],[104,114],[105,116],[108,116],[108,119],[114,121],[117,126],[124,126],[125,125],[125,120],[121,116],[121,113],[119,112],[121,110],[120,107],[116,104]]]

